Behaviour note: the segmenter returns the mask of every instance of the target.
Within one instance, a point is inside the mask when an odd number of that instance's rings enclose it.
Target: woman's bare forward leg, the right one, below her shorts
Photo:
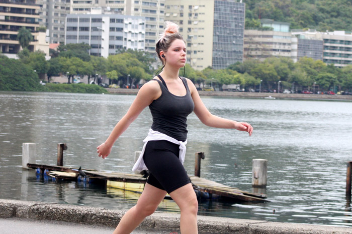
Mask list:
[[[197,234],[198,200],[192,184],[187,184],[169,194],[181,210],[181,233]]]

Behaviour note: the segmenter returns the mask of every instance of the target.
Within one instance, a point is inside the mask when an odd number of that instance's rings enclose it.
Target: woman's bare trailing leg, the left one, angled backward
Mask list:
[[[146,183],[137,204],[125,213],[113,234],[131,233],[146,216],[154,213],[165,195],[165,190]]]

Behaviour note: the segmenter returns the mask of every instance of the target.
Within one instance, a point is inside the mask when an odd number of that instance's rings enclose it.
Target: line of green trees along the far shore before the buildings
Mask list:
[[[87,44],[61,45],[58,51],[51,50],[49,61],[45,60],[43,53],[29,52],[27,49],[18,54],[18,61],[5,59],[3,56],[0,58],[3,65],[0,71],[2,77],[0,90],[33,91],[33,87],[38,86],[23,85],[34,81],[39,83],[39,79],[47,79],[50,82],[51,77],[60,75],[67,77],[67,83],[72,83],[76,76],[87,76],[90,81],[98,74],[107,77],[109,84],[127,84],[129,79],[130,83],[137,86],[140,80],[152,79],[160,69],[153,69],[155,58],[142,51],[122,50],[119,54],[110,55],[106,59],[90,56],[89,49],[90,46]],[[5,76],[6,71],[12,71],[11,77]],[[188,77],[198,87],[209,87],[212,84],[220,90],[222,85],[229,84],[240,84],[241,89],[245,91],[258,89],[259,86],[262,91],[275,90],[279,81],[282,90],[291,89],[293,85],[296,91],[313,90],[313,85],[315,90],[322,91],[352,90],[351,65],[340,69],[306,57],[297,63],[283,57],[271,57],[264,61],[247,60],[220,70],[208,67],[197,71],[187,64],[185,74],[183,73],[184,70],[181,69],[180,76]],[[9,88],[13,87],[9,84],[17,84],[18,87]]]

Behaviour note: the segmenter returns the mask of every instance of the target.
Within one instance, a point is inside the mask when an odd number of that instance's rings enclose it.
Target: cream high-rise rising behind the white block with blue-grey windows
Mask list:
[[[145,18],[146,52],[155,53],[155,44],[164,28],[165,0],[74,0],[71,14],[120,14]]]

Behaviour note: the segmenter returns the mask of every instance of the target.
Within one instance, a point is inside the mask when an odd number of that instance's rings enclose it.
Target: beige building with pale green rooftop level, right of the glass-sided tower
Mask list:
[[[244,60],[263,61],[272,56],[297,58],[297,42],[292,47],[292,40],[297,40],[292,38],[289,23],[265,19],[261,24],[260,30],[244,30]]]

